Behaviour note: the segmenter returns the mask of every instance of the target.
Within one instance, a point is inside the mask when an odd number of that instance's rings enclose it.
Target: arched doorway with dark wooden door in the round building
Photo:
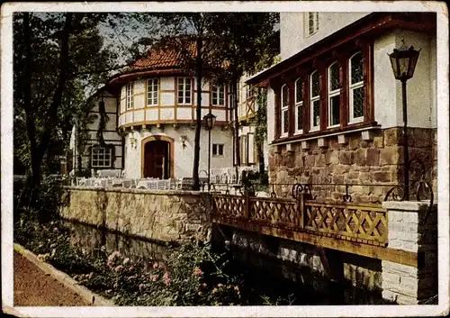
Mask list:
[[[173,177],[173,141],[152,136],[142,141],[142,177]]]

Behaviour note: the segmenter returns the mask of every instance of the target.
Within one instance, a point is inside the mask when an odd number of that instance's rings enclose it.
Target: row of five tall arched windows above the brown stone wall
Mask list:
[[[278,86],[277,137],[321,132],[322,115],[326,117],[323,131],[336,132],[340,128],[372,123],[372,66],[368,65],[373,63],[371,54],[370,44],[365,49],[354,46],[339,53],[329,52],[315,62],[297,66],[293,74],[280,77],[283,82]],[[293,78],[292,82],[286,82],[286,77]],[[291,87],[293,94],[290,94]]]

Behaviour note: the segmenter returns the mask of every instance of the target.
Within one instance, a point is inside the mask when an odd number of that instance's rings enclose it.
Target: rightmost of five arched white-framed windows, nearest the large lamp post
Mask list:
[[[361,52],[355,53],[348,63],[348,96],[350,123],[358,123],[364,120],[364,59]]]

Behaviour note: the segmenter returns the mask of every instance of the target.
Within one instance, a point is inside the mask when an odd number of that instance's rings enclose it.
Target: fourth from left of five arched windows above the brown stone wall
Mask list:
[[[329,67],[329,127],[340,124],[340,76],[339,64],[335,62]]]

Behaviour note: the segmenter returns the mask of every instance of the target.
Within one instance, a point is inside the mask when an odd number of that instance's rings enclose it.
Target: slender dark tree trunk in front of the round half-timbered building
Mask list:
[[[197,107],[195,122],[195,137],[193,147],[193,191],[200,190],[198,170],[200,166],[200,131],[202,130],[202,37],[197,37],[197,57],[195,73],[197,76]]]

